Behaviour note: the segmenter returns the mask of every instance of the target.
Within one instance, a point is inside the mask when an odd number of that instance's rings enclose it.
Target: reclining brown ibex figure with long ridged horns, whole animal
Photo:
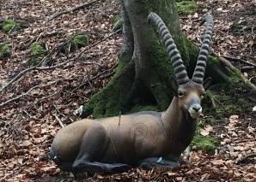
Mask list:
[[[191,143],[202,113],[201,99],[213,20],[205,16],[206,32],[192,79],[167,26],[155,13],[149,21],[158,27],[174,67],[176,94],[165,112],[144,111],[97,120],[79,120],[62,128],[53,139],[50,156],[70,172],[122,172],[134,166],[176,167]]]

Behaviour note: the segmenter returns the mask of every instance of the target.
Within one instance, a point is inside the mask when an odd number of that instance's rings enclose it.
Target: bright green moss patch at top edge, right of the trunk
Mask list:
[[[181,1],[177,2],[176,5],[179,14],[182,15],[192,15],[198,9],[198,4],[193,1]]]

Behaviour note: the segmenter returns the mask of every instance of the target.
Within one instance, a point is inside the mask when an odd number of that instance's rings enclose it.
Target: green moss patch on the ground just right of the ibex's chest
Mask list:
[[[210,154],[214,154],[216,144],[216,138],[210,136],[202,136],[200,134],[197,134],[192,139],[192,145],[194,145],[197,150],[203,150]]]

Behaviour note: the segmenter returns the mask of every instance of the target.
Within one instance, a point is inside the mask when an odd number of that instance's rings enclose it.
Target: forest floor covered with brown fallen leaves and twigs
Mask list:
[[[107,85],[122,45],[121,31],[113,31],[119,5],[110,0],[91,2],[53,17],[82,0],[1,0],[0,23],[13,18],[21,23],[21,29],[0,32],[0,44],[9,41],[11,45],[10,58],[0,59],[0,181],[73,180],[70,173],[61,172],[49,161],[46,153],[61,127],[59,120],[64,125],[78,120],[74,111]],[[229,59],[255,84],[256,2],[197,2],[197,13],[180,15],[182,31],[199,45],[204,33],[199,20],[212,9],[212,51]],[[72,51],[70,39],[79,33],[88,35],[88,45]],[[47,50],[37,55],[43,60],[37,67],[31,65],[36,62],[31,55],[35,41]],[[252,99],[256,103],[255,97]],[[210,132],[220,139],[214,155],[192,150],[189,163],[178,169],[133,168],[127,173],[95,173],[87,180],[256,181],[255,107],[209,128],[202,129],[204,134]]]

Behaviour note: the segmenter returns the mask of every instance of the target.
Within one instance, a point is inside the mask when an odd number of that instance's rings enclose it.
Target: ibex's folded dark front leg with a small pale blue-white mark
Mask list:
[[[143,159],[138,162],[139,166],[143,169],[150,169],[153,167],[156,168],[174,168],[174,167],[180,167],[179,161],[170,161],[165,159],[160,159],[159,157],[149,157],[146,159]]]

